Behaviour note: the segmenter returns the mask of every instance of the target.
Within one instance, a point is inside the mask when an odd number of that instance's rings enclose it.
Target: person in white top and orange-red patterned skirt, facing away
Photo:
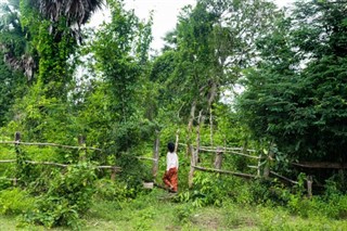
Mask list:
[[[169,142],[167,144],[168,153],[166,154],[166,171],[163,177],[163,181],[171,192],[178,190],[178,156],[175,152],[175,144]]]

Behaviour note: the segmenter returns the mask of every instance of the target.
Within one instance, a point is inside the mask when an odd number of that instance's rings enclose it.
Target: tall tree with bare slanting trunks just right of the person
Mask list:
[[[260,0],[200,0],[195,8],[182,10],[152,79],[165,82],[168,90],[159,97],[189,124],[189,133],[197,112],[203,112],[209,115],[213,137],[214,104],[236,82],[242,67],[252,64],[254,40],[268,34],[275,14],[274,4]],[[166,65],[167,59],[174,62]],[[165,72],[156,69],[163,67]]]

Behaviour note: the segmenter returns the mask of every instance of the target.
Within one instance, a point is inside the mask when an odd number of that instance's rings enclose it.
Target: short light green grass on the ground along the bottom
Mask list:
[[[231,201],[221,207],[193,207],[174,203],[168,193],[153,190],[128,202],[95,201],[83,218],[82,230],[347,230],[347,220],[327,219],[319,214],[293,216],[283,207],[240,205]],[[0,216],[0,231],[46,230],[18,227],[13,217]],[[69,230],[59,228],[52,230]]]

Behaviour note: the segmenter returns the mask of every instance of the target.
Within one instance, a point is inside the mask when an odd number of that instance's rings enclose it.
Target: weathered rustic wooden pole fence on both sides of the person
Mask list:
[[[78,145],[65,145],[65,144],[56,144],[56,143],[44,143],[44,142],[22,142],[21,141],[21,133],[15,133],[14,141],[0,141],[0,145],[13,145],[16,153],[15,159],[0,159],[0,164],[8,164],[8,163],[18,163],[18,159],[21,157],[21,145],[36,145],[36,146],[53,146],[53,147],[60,147],[60,149],[72,149],[72,150],[85,150],[86,153],[80,156],[80,161],[86,161],[87,151],[92,150],[97,152],[102,152],[101,149],[98,147],[91,147],[86,146],[85,139],[82,137],[78,137]],[[139,159],[144,161],[151,161],[153,162],[152,166],[152,175],[155,179],[158,174],[158,163],[159,163],[159,132],[156,131],[156,138],[154,141],[154,150],[153,150],[153,157],[144,157],[144,156],[138,156]],[[226,174],[226,175],[232,175],[236,177],[247,178],[247,179],[256,179],[256,178],[269,178],[270,176],[273,176],[275,178],[279,178],[283,181],[286,181],[292,184],[297,184],[298,182],[295,180],[292,180],[290,178],[286,178],[284,176],[281,176],[273,170],[270,169],[270,163],[273,162],[273,156],[271,153],[268,153],[268,155],[260,152],[260,154],[257,155],[257,152],[255,150],[249,150],[246,147],[228,147],[228,146],[202,146],[200,145],[200,126],[196,128],[196,141],[195,145],[192,144],[184,144],[179,143],[179,130],[176,133],[176,143],[175,143],[175,150],[177,151],[179,146],[184,147],[191,158],[190,164],[190,172],[189,172],[189,187],[191,188],[193,185],[193,178],[194,178],[194,171],[206,171],[206,172],[218,172],[218,174]],[[215,159],[213,163],[213,168],[202,167],[198,166],[198,158],[202,153],[213,153],[215,155]],[[222,163],[223,163],[223,156],[230,154],[234,156],[242,156],[244,158],[252,158],[257,161],[256,166],[248,165],[248,168],[256,169],[256,174],[245,174],[245,172],[237,172],[237,171],[231,171],[222,169]],[[30,165],[48,165],[48,166],[55,166],[55,167],[62,167],[66,168],[68,166],[74,166],[73,164],[64,164],[64,163],[53,163],[53,162],[37,162],[37,161],[29,161],[29,159],[22,159],[23,163],[30,164]],[[340,163],[292,163],[294,166],[303,167],[303,168],[333,168],[333,169],[346,169],[347,164],[340,164]],[[111,169],[111,179],[115,179],[116,172],[121,171],[120,167],[117,166],[110,166],[110,165],[101,165],[101,166],[94,166],[97,169]],[[15,183],[17,181],[16,178],[11,178],[9,180],[13,180]],[[308,194],[311,196],[312,192],[312,176],[307,177],[307,189]]]

